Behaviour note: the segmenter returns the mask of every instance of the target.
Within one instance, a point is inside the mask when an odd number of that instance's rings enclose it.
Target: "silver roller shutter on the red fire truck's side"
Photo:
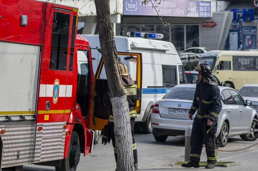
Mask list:
[[[40,46],[0,42],[0,52],[0,121],[34,120]]]

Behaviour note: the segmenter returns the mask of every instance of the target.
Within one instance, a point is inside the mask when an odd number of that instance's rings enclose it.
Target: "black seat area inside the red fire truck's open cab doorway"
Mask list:
[[[77,96],[76,102],[80,105],[81,114],[83,119],[88,117],[88,107],[89,107],[89,73],[77,74]]]

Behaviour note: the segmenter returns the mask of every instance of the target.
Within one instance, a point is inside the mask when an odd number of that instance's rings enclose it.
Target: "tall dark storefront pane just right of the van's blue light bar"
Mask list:
[[[171,25],[171,43],[177,51],[185,50],[184,25]]]

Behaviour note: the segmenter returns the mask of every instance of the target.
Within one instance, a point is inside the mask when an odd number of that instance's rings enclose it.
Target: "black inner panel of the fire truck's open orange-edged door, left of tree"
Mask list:
[[[107,79],[97,79],[96,80],[96,89],[97,95],[94,99],[94,117],[100,118],[100,119],[108,119],[108,111],[107,106],[103,103],[103,97],[106,93],[107,89]]]

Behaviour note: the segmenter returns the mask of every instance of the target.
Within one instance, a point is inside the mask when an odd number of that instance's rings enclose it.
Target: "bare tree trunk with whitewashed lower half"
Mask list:
[[[129,107],[122,85],[117,49],[110,18],[109,0],[95,0],[101,54],[114,114],[114,132],[117,146],[117,170],[134,171],[132,134]]]

